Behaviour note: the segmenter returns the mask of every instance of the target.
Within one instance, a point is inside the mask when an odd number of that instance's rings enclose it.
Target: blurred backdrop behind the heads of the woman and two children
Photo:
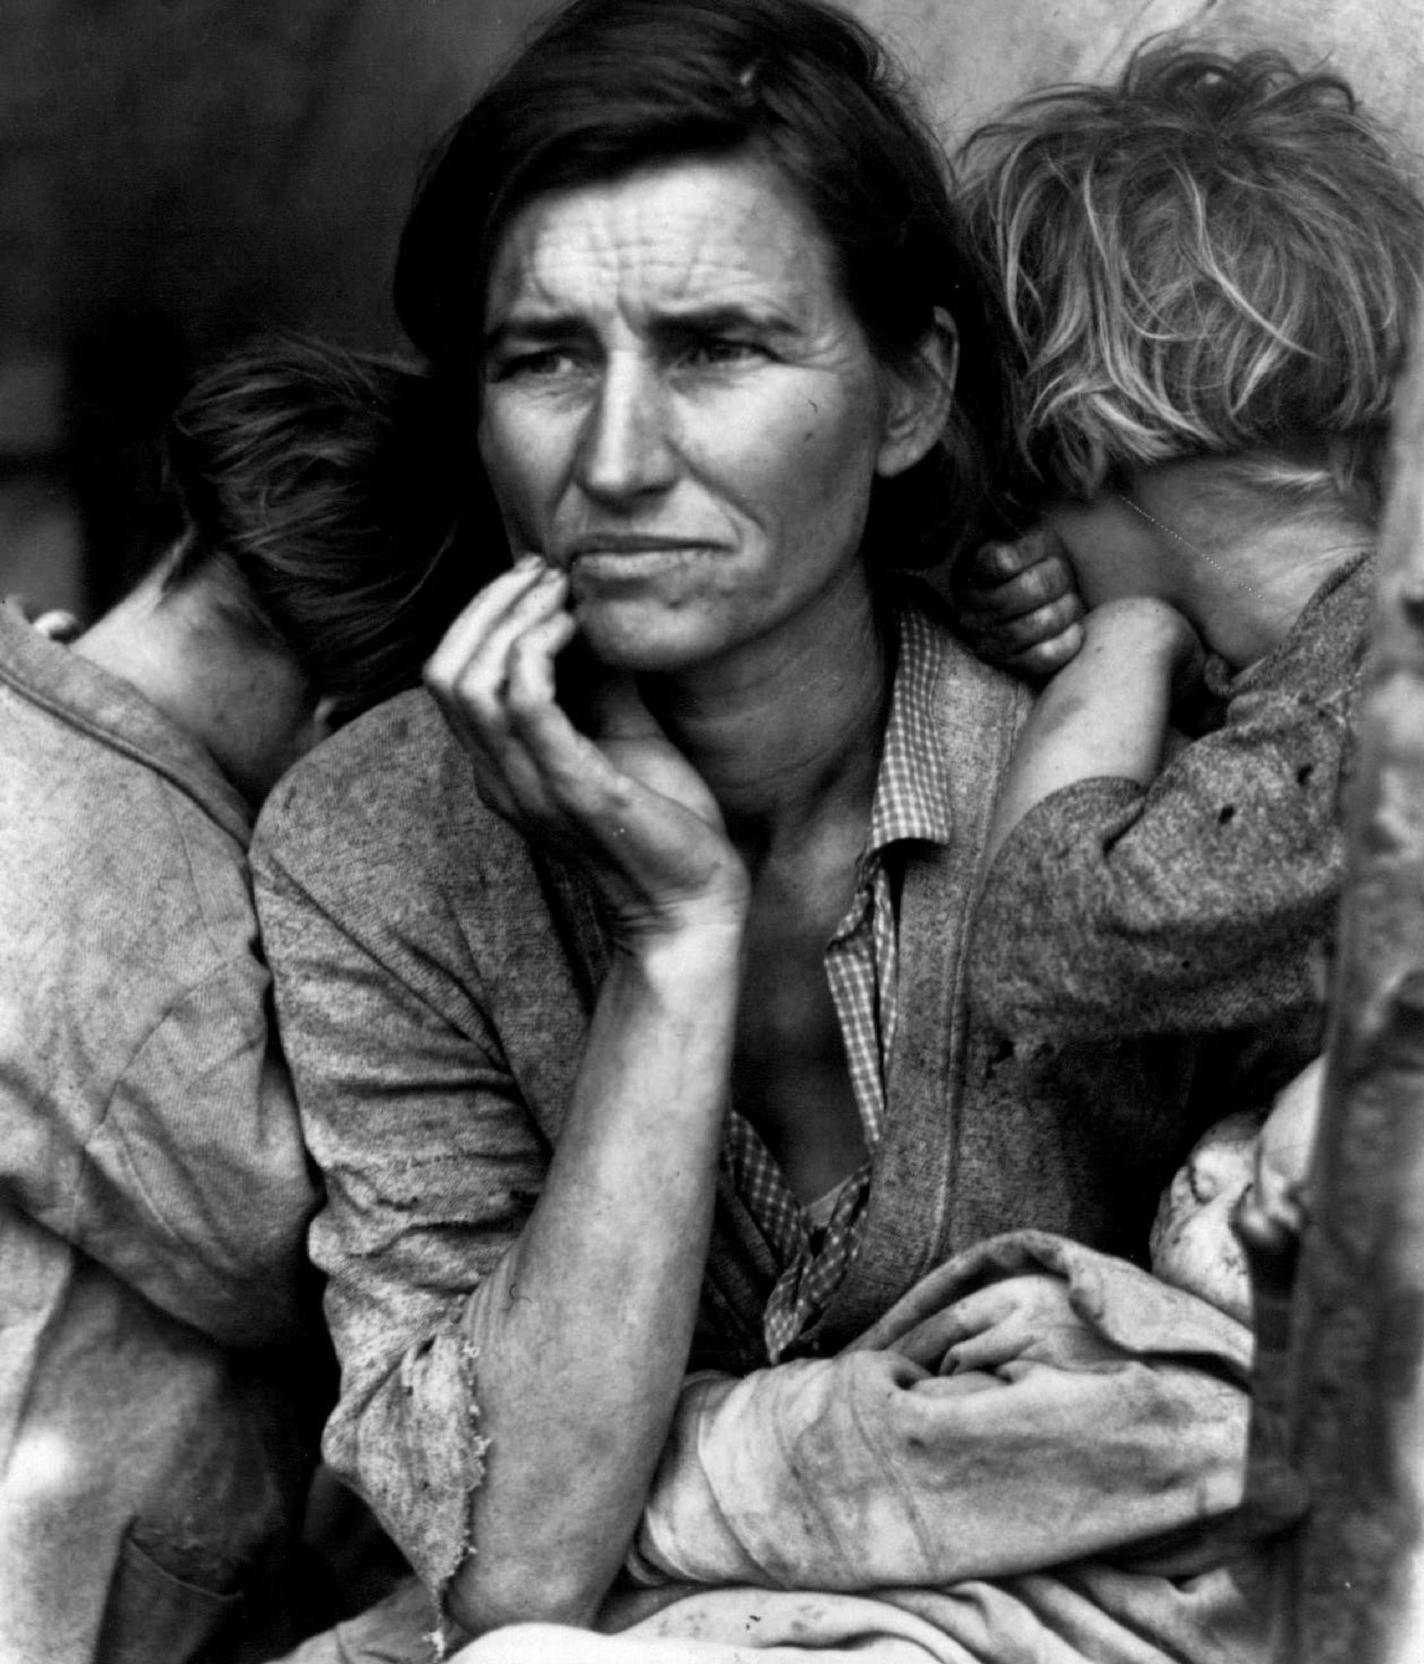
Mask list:
[[[0,594],[91,616],[140,562],[156,436],[265,329],[399,346],[419,160],[547,0],[0,0]],[[945,136],[1188,25],[1334,53],[1424,128],[1424,0],[853,0]]]

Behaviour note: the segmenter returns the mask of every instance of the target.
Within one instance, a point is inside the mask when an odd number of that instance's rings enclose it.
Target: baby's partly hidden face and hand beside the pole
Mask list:
[[[1156,1276],[1251,1321],[1251,1283],[1233,1216],[1248,1196],[1278,1225],[1299,1230],[1301,1191],[1319,1117],[1321,1060],[1264,1110],[1218,1122],[1163,1191],[1151,1235]]]

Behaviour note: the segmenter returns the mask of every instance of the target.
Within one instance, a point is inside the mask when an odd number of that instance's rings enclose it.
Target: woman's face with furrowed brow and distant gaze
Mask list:
[[[479,446],[511,546],[569,572],[604,662],[780,652],[867,606],[872,481],[937,426],[908,433],[918,394],[774,166],[680,160],[537,198],[484,328]]]

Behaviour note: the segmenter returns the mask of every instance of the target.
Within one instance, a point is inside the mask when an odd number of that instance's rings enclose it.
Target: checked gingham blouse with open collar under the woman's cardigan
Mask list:
[[[857,860],[855,894],[825,948],[867,1160],[833,1193],[830,1216],[817,1223],[755,1128],[735,1110],[722,1146],[727,1175],[782,1268],[762,1316],[772,1363],[825,1308],[860,1241],[872,1156],[885,1120],[885,1058],[895,1038],[897,920],[887,852],[905,839],[950,840],[948,757],[932,702],[943,647],[918,612],[900,614],[898,631],[870,834]]]

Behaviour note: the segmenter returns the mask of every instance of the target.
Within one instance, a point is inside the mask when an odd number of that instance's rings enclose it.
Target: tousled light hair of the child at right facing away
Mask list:
[[[1115,85],[1020,100],[962,161],[1035,491],[1274,453],[1266,484],[1377,494],[1424,203],[1344,80],[1155,42]]]

